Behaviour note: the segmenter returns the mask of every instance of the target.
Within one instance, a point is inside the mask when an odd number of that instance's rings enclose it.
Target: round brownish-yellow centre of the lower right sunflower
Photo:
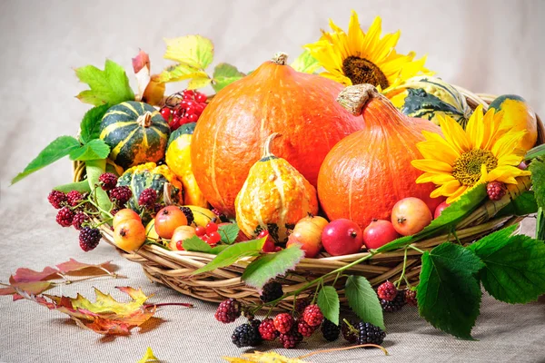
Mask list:
[[[481,165],[490,172],[498,166],[498,159],[488,150],[475,149],[461,154],[452,165],[452,176],[461,185],[472,186],[481,178]]]

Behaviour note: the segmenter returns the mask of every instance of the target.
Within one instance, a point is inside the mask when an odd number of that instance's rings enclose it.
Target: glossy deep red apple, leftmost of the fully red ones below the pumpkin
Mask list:
[[[332,256],[359,252],[363,245],[362,229],[350,220],[331,221],[322,231],[322,244]]]

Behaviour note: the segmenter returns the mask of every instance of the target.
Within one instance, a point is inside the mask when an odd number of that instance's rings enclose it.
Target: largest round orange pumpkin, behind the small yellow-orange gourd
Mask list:
[[[275,155],[316,185],[327,152],[363,120],[335,98],[342,85],[296,72],[277,54],[252,74],[217,93],[193,132],[191,159],[196,181],[215,209],[234,215],[234,200],[262,145],[272,132]]]

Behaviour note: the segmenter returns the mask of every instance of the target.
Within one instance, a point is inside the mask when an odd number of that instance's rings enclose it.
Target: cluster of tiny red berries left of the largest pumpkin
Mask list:
[[[161,109],[164,120],[174,131],[184,123],[196,123],[206,107],[204,93],[183,90],[169,97]],[[178,102],[179,101],[179,102]]]

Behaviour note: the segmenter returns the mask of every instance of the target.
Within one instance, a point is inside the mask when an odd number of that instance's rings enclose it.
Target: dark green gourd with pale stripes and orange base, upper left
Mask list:
[[[124,169],[163,159],[169,133],[161,113],[135,101],[111,107],[100,125],[100,138],[112,150],[110,159]]]

